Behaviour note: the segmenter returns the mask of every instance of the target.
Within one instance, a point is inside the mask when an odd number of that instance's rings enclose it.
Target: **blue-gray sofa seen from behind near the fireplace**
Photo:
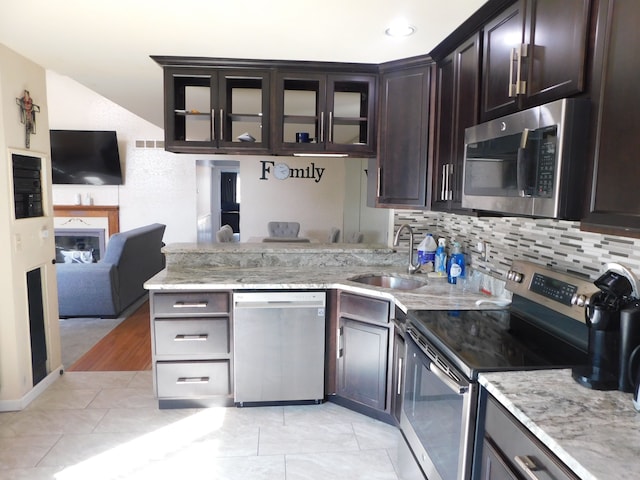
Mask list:
[[[111,236],[97,263],[58,263],[60,317],[118,317],[142,297],[145,281],[165,267],[162,236],[154,223]]]

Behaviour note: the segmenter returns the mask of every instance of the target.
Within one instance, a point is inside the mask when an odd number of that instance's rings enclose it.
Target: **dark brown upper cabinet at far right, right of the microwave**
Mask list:
[[[593,62],[593,182],[585,230],[640,237],[640,3],[601,0]],[[585,135],[585,138],[587,136]]]

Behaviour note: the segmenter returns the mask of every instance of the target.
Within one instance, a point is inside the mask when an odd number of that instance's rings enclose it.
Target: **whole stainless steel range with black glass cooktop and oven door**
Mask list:
[[[400,427],[429,480],[471,478],[478,374],[587,363],[588,279],[514,261],[502,310],[409,311]]]

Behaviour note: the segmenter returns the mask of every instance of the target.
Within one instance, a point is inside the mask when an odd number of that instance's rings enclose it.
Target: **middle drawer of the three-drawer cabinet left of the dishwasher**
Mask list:
[[[229,318],[153,322],[156,355],[215,355],[231,351]]]

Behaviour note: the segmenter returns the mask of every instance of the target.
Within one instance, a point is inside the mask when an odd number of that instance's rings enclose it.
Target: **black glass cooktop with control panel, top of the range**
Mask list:
[[[408,329],[471,380],[479,372],[587,363],[584,305],[597,291],[591,281],[514,261],[506,288],[513,293],[507,309],[409,311]]]

